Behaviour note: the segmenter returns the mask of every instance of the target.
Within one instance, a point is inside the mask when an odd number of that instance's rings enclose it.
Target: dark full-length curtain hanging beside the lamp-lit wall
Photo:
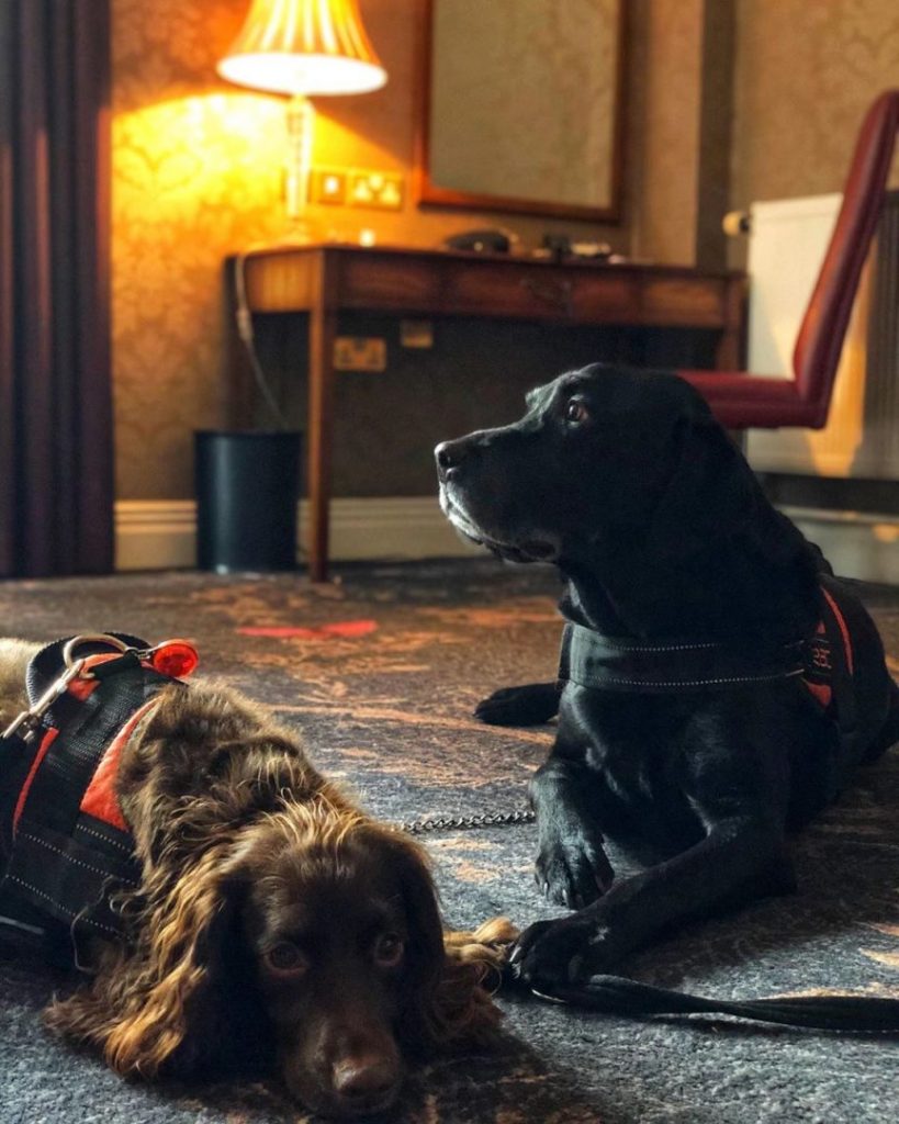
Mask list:
[[[0,575],[112,568],[109,0],[0,0]]]

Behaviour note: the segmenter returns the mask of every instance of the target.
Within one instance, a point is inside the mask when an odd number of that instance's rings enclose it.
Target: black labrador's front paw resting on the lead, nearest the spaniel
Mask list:
[[[605,972],[620,959],[609,931],[590,910],[557,921],[538,921],[518,937],[509,963],[526,984],[572,984]]]

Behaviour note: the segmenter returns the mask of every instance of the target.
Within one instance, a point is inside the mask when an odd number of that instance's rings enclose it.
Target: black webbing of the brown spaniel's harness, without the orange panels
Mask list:
[[[137,637],[110,635],[147,647]],[[47,645],[29,664],[33,705],[64,670],[65,644]],[[79,651],[89,655],[103,646]],[[70,962],[73,951],[78,959],[82,931],[122,939],[111,901],[140,876],[130,832],[83,810],[84,794],[127,720],[176,682],[134,653],[98,664],[92,681],[84,697],[64,692],[55,699],[33,740],[18,733],[0,738],[0,932],[67,950]]]

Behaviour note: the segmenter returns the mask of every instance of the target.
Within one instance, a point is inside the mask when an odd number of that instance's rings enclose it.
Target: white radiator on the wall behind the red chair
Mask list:
[[[748,369],[790,374],[802,314],[841,196],[751,208]],[[890,192],[862,275],[824,429],[754,429],[755,469],[899,479],[899,192]]]

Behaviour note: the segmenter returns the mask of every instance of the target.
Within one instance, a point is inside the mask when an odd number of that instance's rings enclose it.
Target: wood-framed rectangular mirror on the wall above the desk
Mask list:
[[[418,201],[616,221],[626,0],[427,0]]]

